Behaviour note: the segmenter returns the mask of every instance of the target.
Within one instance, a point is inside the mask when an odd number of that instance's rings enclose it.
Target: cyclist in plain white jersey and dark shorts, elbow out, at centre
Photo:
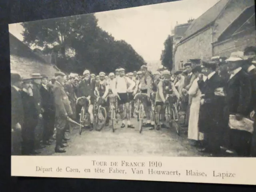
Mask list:
[[[125,70],[121,68],[119,70],[119,76],[116,77],[116,94],[119,96],[120,100],[118,100],[118,108],[120,110],[120,116],[122,119],[121,128],[125,127],[124,123],[124,111],[123,105],[126,108],[126,116],[127,116],[127,127],[134,128],[134,126],[130,122],[130,100],[128,98],[128,92],[131,92],[135,86],[135,82],[130,80],[125,76]]]

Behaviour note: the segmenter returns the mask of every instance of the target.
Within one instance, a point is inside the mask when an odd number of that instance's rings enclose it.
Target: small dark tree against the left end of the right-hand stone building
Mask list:
[[[162,65],[168,70],[172,70],[172,48],[173,48],[173,39],[172,36],[168,35],[167,39],[164,42],[164,50],[162,50],[161,54],[161,62]]]

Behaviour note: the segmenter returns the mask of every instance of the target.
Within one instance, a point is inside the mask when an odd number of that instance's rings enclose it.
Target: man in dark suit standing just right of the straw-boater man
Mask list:
[[[42,82],[40,86],[40,94],[42,98],[42,116],[43,116],[43,144],[51,144],[51,136],[54,131],[54,122],[55,122],[55,107],[54,107],[54,98],[52,94],[52,89],[48,85],[48,77],[45,74],[42,74]]]

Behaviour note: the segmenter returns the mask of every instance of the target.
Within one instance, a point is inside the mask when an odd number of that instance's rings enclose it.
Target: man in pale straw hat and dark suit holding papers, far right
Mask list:
[[[228,71],[231,74],[226,85],[226,100],[229,114],[236,116],[236,120],[248,117],[251,112],[252,85],[250,76],[242,68],[243,54],[231,54],[228,62]],[[239,156],[250,155],[252,134],[245,130],[230,130],[230,149],[235,150]]]

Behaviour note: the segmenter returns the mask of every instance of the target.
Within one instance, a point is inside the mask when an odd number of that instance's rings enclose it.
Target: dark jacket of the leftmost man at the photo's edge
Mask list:
[[[24,124],[24,110],[22,104],[22,98],[20,91],[17,91],[14,87],[11,87],[12,97],[12,128],[20,123],[21,126]]]

